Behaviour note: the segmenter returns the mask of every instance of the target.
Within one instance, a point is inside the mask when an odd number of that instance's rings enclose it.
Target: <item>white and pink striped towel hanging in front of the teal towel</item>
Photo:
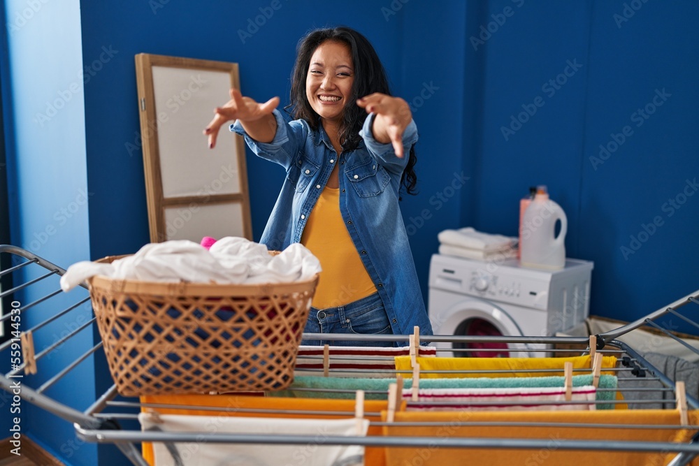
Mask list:
[[[595,409],[597,389],[592,385],[572,387],[570,405],[564,387],[534,388],[426,388],[419,389],[417,401],[408,402],[409,411],[589,411]],[[412,393],[403,392],[403,400]],[[561,402],[560,404],[555,404]]]

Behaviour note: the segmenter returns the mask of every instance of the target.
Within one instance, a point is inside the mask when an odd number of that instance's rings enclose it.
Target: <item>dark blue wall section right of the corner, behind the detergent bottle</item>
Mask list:
[[[507,7],[468,49],[485,55],[485,74],[465,223],[516,235],[517,199],[547,184],[568,214],[568,256],[595,262],[592,314],[633,320],[698,289],[699,4],[498,0],[481,24]],[[559,78],[568,61],[577,71]],[[537,96],[543,105],[503,135]],[[600,144],[614,152],[600,156]]]

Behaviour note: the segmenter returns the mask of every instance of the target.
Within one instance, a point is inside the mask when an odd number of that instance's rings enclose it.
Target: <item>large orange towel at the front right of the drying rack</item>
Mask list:
[[[386,412],[382,412],[386,419]],[[384,435],[412,437],[470,437],[544,439],[543,449],[447,449],[439,446],[387,448],[387,465],[452,465],[464,458],[470,465],[666,465],[675,453],[629,451],[561,450],[566,439],[633,442],[689,442],[696,430],[679,428],[679,413],[674,410],[635,409],[627,411],[584,412],[396,412],[395,423],[384,426]],[[456,425],[476,422],[602,423],[677,425],[677,429],[630,429],[584,427],[507,427],[493,425]],[[401,423],[434,422],[438,425],[416,427]],[[689,423],[697,425],[699,412],[689,412]],[[367,463],[370,464],[370,463]],[[466,463],[463,463],[466,464]],[[699,460],[691,463],[699,465]]]

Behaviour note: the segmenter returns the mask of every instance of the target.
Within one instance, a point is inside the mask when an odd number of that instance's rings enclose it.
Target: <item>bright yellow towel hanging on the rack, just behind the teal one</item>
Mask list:
[[[410,356],[396,356],[396,370],[404,371],[406,377],[412,376]],[[514,372],[452,372],[444,374],[423,374],[424,379],[445,379],[448,377],[545,377],[563,375],[563,366],[572,363],[573,369],[590,369],[590,356],[572,358],[417,358],[420,370],[512,370]],[[603,356],[602,367],[617,365],[614,356]],[[537,372],[540,369],[560,369],[561,372]],[[577,372],[579,374],[579,372]],[[602,372],[613,374],[613,372]]]

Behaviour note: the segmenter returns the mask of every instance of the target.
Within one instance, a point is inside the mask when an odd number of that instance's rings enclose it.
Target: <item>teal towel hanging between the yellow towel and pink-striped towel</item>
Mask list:
[[[386,400],[389,384],[396,379],[353,379],[342,377],[294,377],[294,383],[281,391],[268,392],[268,396],[291,398],[338,398],[353,400],[357,390],[365,391],[366,400]],[[562,387],[565,377],[467,377],[463,379],[421,379],[420,388],[535,388]],[[592,385],[592,374],[572,376],[572,386]],[[412,387],[412,379],[403,379],[403,390]],[[313,391],[296,390],[313,388]],[[598,388],[610,390],[596,393],[596,400],[611,401],[617,396],[617,376],[600,375]],[[377,392],[377,393],[372,393]],[[614,409],[609,403],[598,404],[597,409]]]

